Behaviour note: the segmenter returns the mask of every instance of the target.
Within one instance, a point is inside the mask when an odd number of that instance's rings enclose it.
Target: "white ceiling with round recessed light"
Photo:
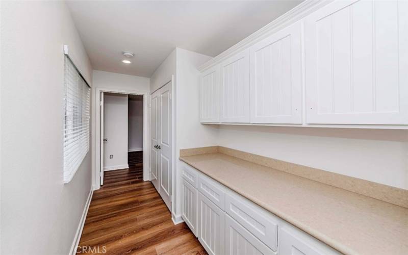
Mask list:
[[[95,70],[150,77],[175,47],[217,56],[302,0],[68,1]],[[122,51],[135,54],[121,62]]]

